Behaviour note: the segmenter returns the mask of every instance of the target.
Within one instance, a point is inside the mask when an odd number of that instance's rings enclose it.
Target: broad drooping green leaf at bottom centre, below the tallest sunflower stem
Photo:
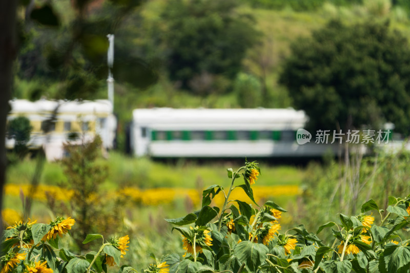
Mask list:
[[[234,251],[240,263],[245,263],[249,271],[256,271],[258,266],[265,263],[269,248],[263,244],[243,241],[235,246]]]

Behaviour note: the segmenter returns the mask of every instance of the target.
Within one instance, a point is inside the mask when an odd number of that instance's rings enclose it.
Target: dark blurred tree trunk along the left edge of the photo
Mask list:
[[[13,60],[17,53],[16,8],[17,0],[0,1],[0,212],[6,182],[6,118],[9,112]],[[0,217],[0,234],[2,233],[3,219]]]

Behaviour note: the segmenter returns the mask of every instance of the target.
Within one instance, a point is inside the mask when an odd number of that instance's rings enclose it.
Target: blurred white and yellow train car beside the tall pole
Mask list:
[[[73,134],[78,136],[78,143],[90,141],[98,134],[105,149],[113,148],[117,122],[108,100],[32,102],[14,99],[9,104],[8,121],[18,116],[27,117],[32,127],[27,145],[29,149],[43,148],[49,161],[63,157],[63,143]],[[48,133],[45,133],[46,127]],[[15,140],[8,136],[6,148],[12,149],[14,144]]]

